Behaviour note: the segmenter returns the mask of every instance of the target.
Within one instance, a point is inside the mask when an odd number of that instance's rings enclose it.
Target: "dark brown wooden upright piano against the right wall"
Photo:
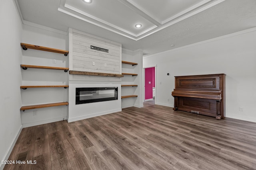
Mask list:
[[[173,109],[224,118],[225,75],[175,76]]]

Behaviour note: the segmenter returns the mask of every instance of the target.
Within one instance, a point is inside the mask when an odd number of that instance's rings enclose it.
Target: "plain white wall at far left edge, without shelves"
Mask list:
[[[7,160],[22,129],[20,121],[22,23],[14,1],[0,1],[0,160]],[[0,169],[4,165],[0,164]]]

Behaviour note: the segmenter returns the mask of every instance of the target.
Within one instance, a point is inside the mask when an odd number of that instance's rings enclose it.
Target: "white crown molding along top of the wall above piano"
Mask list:
[[[205,41],[200,41],[198,43],[193,43],[193,44],[185,45],[185,46],[178,47],[178,48],[175,48],[175,49],[171,49],[171,50],[167,50],[167,51],[162,51],[160,53],[147,55],[147,56],[145,56],[143,58],[146,59],[146,58],[149,58],[149,57],[154,57],[156,55],[162,55],[162,54],[165,54],[165,53],[169,53],[171,51],[178,51],[178,50],[181,50],[181,49],[186,49],[186,48],[193,47],[193,46],[196,46],[196,45],[201,45],[201,44],[205,44],[205,43],[210,43],[212,41],[218,41],[220,39],[226,39],[226,38],[234,37],[234,36],[237,36],[237,35],[242,35],[242,34],[245,34],[245,33],[250,33],[250,32],[253,32],[253,31],[256,31],[256,27],[253,27],[253,28],[250,28],[250,29],[245,29],[245,30],[242,30],[242,31],[238,31],[238,32],[235,32],[235,33],[223,35],[223,36],[212,38],[212,39],[207,39]]]

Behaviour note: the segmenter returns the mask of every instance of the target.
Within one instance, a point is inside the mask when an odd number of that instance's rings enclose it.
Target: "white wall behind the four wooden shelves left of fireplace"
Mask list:
[[[23,25],[22,42],[55,49],[68,50],[68,35],[56,33],[38,27]],[[63,54],[39,51],[34,49],[22,50],[21,64],[68,67],[68,56]],[[53,63],[56,59],[56,64]],[[22,69],[22,85],[68,85],[68,72],[63,70],[47,70],[28,68]],[[22,106],[58,103],[68,101],[68,89],[64,88],[28,88],[21,89]],[[33,113],[36,112],[36,115]],[[23,127],[40,125],[66,119],[68,106],[30,109],[21,112]]]

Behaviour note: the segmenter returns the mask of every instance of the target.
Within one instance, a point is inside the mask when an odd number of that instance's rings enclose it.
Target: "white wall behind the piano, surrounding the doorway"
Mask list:
[[[224,73],[226,117],[256,122],[255,37],[253,28],[144,58],[143,67],[157,64],[156,104],[173,107],[174,76]]]

